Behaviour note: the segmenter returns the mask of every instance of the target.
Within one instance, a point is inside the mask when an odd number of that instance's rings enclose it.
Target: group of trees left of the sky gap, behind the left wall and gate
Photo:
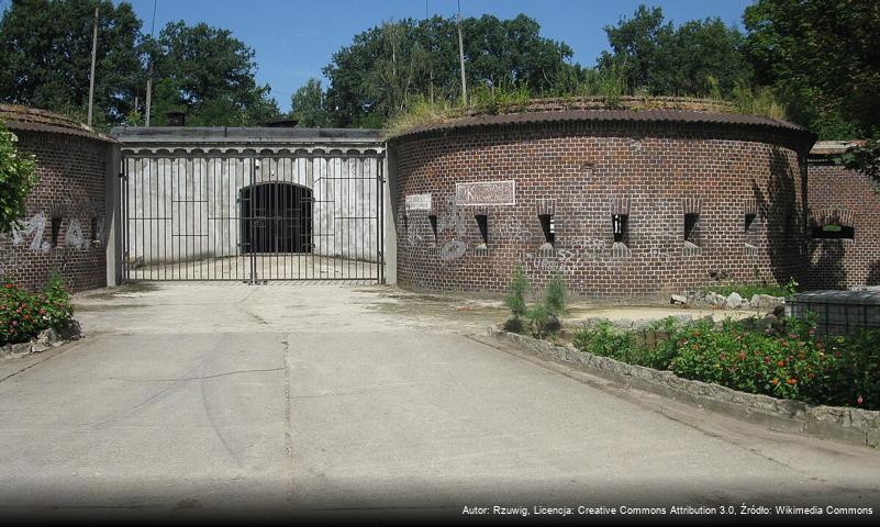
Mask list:
[[[99,8],[94,123],[142,122],[149,60],[153,120],[186,110],[192,125],[247,125],[275,119],[269,87],[254,80],[254,51],[227,30],[169,23],[154,41],[132,5],[110,0],[15,0],[0,20],[0,101],[87,114],[92,21]],[[138,108],[135,109],[135,100]]]

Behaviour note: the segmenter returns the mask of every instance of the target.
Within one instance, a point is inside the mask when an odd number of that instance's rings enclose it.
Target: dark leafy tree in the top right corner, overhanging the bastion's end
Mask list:
[[[880,134],[880,2],[758,0],[746,8],[758,80],[823,138]]]

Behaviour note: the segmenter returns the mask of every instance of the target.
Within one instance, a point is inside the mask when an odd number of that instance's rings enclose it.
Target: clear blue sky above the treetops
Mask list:
[[[130,2],[149,32],[154,0]],[[640,3],[661,7],[677,24],[720,16],[742,29],[751,0],[461,0],[461,14],[510,19],[525,13],[538,21],[543,36],[566,42],[576,61],[592,66],[608,48],[602,27],[631,16]],[[427,12],[452,16],[456,0],[427,0]],[[288,111],[291,93],[309,77],[323,80],[321,68],[354,35],[382,21],[424,15],[425,0],[156,0],[156,32],[177,20],[231,30],[256,52],[257,81],[268,82]]]

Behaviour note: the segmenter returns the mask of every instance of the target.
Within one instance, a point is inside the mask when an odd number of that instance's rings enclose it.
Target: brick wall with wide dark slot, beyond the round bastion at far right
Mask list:
[[[811,223],[832,217],[855,227],[851,239],[811,239],[811,289],[880,285],[880,197],[866,176],[832,162],[810,158]]]

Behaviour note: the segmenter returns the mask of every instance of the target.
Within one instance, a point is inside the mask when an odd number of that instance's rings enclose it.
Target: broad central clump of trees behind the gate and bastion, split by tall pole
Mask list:
[[[541,36],[537,22],[483,15],[461,22],[469,88],[527,86],[553,92],[580,67],[573,52]],[[324,75],[337,124],[381,125],[413,101],[460,97],[458,38],[454,19],[433,16],[387,22],[354,37],[333,55]]]

